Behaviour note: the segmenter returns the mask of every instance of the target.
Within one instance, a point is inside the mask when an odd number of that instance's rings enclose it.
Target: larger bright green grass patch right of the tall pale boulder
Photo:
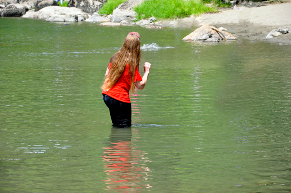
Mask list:
[[[146,0],[134,8],[138,20],[154,16],[156,19],[184,18],[206,12],[218,12],[201,0]]]

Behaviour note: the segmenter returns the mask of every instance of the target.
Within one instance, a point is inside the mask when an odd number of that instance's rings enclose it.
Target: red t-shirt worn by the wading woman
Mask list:
[[[109,70],[112,63],[109,63]],[[134,82],[136,81],[142,81],[143,78],[141,74],[139,74],[137,70],[137,66],[135,67],[135,74],[134,74]],[[129,90],[130,90],[130,73],[129,73],[129,64],[126,65],[124,72],[121,74],[115,85],[109,89],[108,91],[103,90],[102,94],[107,94],[108,96],[112,97],[113,99],[116,99],[118,101],[124,102],[124,103],[130,103],[129,99]]]

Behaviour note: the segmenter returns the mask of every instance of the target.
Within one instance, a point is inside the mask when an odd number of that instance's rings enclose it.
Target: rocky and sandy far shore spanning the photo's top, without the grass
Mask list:
[[[70,0],[60,7],[54,0],[0,0],[1,16],[21,16],[47,21],[94,22],[100,26],[140,25],[161,29],[193,28],[205,24],[223,27],[238,39],[291,44],[291,3],[243,2],[235,7],[221,8],[219,13],[194,15],[183,19],[156,21],[152,17],[137,21],[133,8],[144,0],[128,0],[120,4],[113,15],[98,15],[106,0]],[[86,5],[86,6],[84,6]],[[34,9],[33,9],[34,8]]]

